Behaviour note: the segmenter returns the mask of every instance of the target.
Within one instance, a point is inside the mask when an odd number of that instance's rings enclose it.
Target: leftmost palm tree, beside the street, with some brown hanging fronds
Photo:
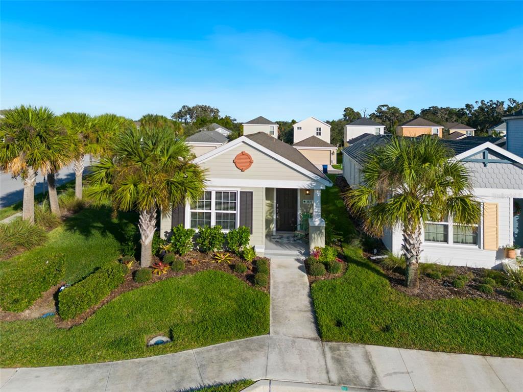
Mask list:
[[[39,171],[49,175],[67,164],[67,137],[50,109],[21,105],[4,113],[0,141],[0,168],[24,180],[22,218],[33,223],[36,176]]]

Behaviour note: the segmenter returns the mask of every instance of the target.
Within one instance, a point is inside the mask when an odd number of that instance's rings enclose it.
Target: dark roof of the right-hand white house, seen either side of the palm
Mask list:
[[[401,136],[399,136],[401,137]],[[358,164],[365,164],[367,155],[372,152],[376,147],[383,146],[390,142],[392,136],[389,135],[371,135],[368,134],[367,137],[364,137],[357,141],[356,143],[351,144],[350,146],[342,149],[344,154],[347,154],[349,157],[353,158]],[[488,140],[485,140],[488,139]],[[469,149],[479,146],[485,142],[493,142],[495,137],[483,137],[482,140],[477,140],[474,136],[467,136],[460,140],[447,140],[439,139],[441,143],[444,143],[449,147],[454,155],[459,155]]]

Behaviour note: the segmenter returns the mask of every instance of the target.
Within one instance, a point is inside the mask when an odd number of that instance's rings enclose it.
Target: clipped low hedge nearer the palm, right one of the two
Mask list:
[[[107,264],[58,295],[58,314],[64,320],[81,315],[123,283],[121,264]]]

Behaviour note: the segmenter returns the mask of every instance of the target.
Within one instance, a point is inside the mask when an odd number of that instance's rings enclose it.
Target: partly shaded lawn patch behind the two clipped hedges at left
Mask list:
[[[119,214],[117,220],[112,220],[108,207],[86,208],[52,230],[45,245],[2,261],[0,276],[26,260],[60,252],[66,256],[65,281],[77,282],[95,268],[118,258],[122,229],[136,220],[133,213]]]

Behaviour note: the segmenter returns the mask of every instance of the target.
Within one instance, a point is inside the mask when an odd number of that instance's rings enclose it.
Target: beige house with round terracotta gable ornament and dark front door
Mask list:
[[[179,224],[195,229],[220,225],[224,232],[246,226],[250,245],[263,255],[267,237],[293,232],[307,213],[309,246],[324,246],[321,190],[332,182],[298,149],[257,132],[214,148],[194,163],[207,170],[206,190],[200,200],[163,212],[162,236]]]

